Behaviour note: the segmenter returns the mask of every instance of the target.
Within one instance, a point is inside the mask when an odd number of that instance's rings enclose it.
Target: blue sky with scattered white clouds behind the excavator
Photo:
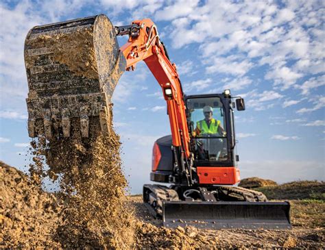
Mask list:
[[[30,160],[28,30],[101,13],[113,25],[151,18],[187,95],[229,88],[244,97],[246,110],[235,113],[241,178],[325,180],[324,1],[1,0],[0,160],[23,171]],[[141,193],[154,141],[170,134],[163,93],[141,62],[113,101],[125,175]]]

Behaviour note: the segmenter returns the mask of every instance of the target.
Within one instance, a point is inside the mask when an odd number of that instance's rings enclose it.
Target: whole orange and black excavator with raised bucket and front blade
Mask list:
[[[128,36],[119,47],[117,36]],[[47,140],[82,137],[96,119],[110,136],[111,97],[124,71],[145,62],[167,103],[171,135],[154,142],[143,202],[165,227],[291,229],[289,202],[269,202],[262,192],[234,186],[240,180],[234,108],[245,110],[230,90],[185,95],[150,19],[115,27],[104,14],[33,27],[25,39],[29,87],[28,133]],[[165,185],[164,185],[165,184]],[[169,186],[166,186],[169,184]]]

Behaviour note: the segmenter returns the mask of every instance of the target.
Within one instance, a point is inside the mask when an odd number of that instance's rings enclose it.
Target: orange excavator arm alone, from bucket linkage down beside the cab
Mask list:
[[[132,22],[130,26],[116,27],[116,30],[117,35],[129,35],[128,42],[120,49],[126,59],[126,69],[134,70],[140,61],[147,64],[167,102],[173,146],[183,147],[186,157],[189,157],[190,138],[182,86],[176,64],[170,62],[156,25],[150,19],[143,19]]]

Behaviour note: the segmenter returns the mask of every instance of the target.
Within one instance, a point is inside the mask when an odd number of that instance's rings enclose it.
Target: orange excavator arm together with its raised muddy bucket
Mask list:
[[[129,39],[119,48],[117,36],[123,35]],[[95,117],[108,136],[115,86],[140,61],[163,90],[173,145],[189,157],[182,86],[150,19],[114,27],[101,14],[32,28],[25,40],[29,136],[69,137],[71,121],[79,118],[82,136],[88,137],[89,121]]]

